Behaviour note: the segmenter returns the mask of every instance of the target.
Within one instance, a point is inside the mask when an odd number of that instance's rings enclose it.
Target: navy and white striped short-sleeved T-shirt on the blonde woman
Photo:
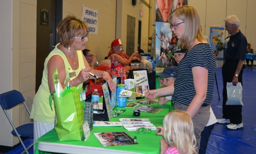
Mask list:
[[[191,103],[196,95],[192,68],[200,66],[208,70],[207,95],[202,105],[210,104],[214,89],[215,65],[215,57],[211,46],[207,43],[199,43],[193,46],[189,53],[186,53],[185,57],[179,62],[172,101],[184,105]]]

